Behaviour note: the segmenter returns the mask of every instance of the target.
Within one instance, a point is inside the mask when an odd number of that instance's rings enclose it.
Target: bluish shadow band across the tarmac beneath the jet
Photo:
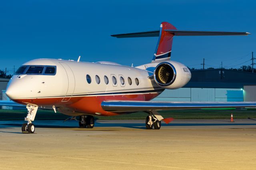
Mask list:
[[[6,123],[2,124],[0,128],[8,128],[5,126],[21,127],[20,123]],[[47,125],[47,124],[36,124],[38,128],[77,128],[76,125]],[[246,125],[256,125],[256,123],[162,123],[162,127],[178,127],[178,126],[246,126]],[[144,123],[95,123],[95,127],[125,127],[125,128],[137,128],[137,129],[146,129]],[[1,132],[1,131],[0,131]]]

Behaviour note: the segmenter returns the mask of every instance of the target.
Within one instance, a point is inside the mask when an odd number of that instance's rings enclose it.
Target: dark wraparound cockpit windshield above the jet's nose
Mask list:
[[[55,75],[55,65],[22,65],[15,72],[15,75],[29,74],[29,75]]]

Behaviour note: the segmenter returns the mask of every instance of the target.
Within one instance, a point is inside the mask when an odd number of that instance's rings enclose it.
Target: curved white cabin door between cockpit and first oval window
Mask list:
[[[74,90],[75,90],[75,77],[74,77],[74,73],[72,71],[72,69],[69,67],[68,64],[63,63],[63,62],[59,62],[62,67],[65,69],[66,71],[66,75],[68,77],[68,90],[65,94],[65,97],[62,99],[62,102],[67,102],[70,100],[70,98],[72,97]]]

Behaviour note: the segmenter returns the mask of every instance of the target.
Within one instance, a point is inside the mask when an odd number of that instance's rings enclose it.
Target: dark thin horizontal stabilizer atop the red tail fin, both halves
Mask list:
[[[247,36],[248,32],[224,32],[224,31],[188,31],[188,30],[164,30],[174,36]],[[160,31],[136,32],[128,34],[111,35],[116,38],[158,37]]]

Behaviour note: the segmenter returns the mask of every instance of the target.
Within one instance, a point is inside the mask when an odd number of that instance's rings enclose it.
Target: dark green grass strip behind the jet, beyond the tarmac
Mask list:
[[[256,118],[256,109],[248,110],[174,110],[174,111],[159,111],[164,117],[173,117],[174,119],[230,119],[231,113],[234,119]],[[27,113],[26,110],[3,110],[0,109],[0,120],[24,120]],[[118,115],[113,117],[95,116],[96,119],[145,119],[148,114],[137,112],[128,115]],[[70,116],[63,115],[59,112],[54,113],[52,110],[38,110],[36,120],[65,120]]]

